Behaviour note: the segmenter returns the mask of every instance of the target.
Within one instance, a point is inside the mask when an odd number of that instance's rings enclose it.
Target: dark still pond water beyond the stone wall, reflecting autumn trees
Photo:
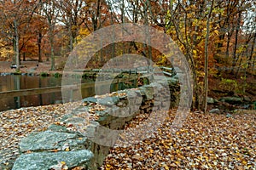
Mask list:
[[[137,79],[136,79],[137,81]],[[135,88],[137,83],[131,82],[108,82],[99,83],[95,87],[95,83],[91,79],[85,79],[81,77],[68,77],[68,82],[74,85],[79,83],[85,83],[86,88],[79,88],[77,91],[67,89],[64,94],[61,92],[50,93],[50,94],[37,94],[17,97],[6,97],[3,98],[0,95],[0,111],[7,111],[11,109],[18,109],[21,107],[30,107],[38,105],[51,105],[59,104],[63,102],[69,102],[70,99],[78,100],[80,97],[86,98],[94,96],[95,94],[106,94],[125,88]],[[46,88],[61,86],[61,77],[39,77],[39,76],[28,76],[28,75],[4,75],[0,76],[0,92],[31,89],[31,88]],[[72,93],[70,93],[72,92]],[[66,94],[67,93],[67,94]],[[72,96],[70,96],[70,94]],[[62,98],[63,97],[63,98]],[[62,100],[64,99],[64,100]]]

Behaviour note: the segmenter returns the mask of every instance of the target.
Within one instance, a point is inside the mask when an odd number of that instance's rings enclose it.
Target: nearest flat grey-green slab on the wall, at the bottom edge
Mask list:
[[[90,150],[60,151],[60,152],[37,152],[22,154],[12,168],[13,170],[48,170],[50,167],[65,163],[68,169],[72,167],[88,167],[93,154]]]

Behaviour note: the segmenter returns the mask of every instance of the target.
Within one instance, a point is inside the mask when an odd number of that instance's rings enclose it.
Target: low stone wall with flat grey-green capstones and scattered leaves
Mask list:
[[[150,114],[153,108],[159,111],[169,108],[165,101],[170,98],[164,99],[166,88],[161,83],[164,82],[83,99],[82,104],[63,116],[60,122],[22,139],[20,157],[13,169],[97,169],[118,138],[111,131],[124,128],[137,114]],[[170,106],[175,107],[179,100],[179,83],[169,78],[168,84]]]

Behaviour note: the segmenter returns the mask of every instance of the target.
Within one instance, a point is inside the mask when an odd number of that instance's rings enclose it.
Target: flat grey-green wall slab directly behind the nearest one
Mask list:
[[[84,149],[86,140],[77,133],[53,131],[31,133],[20,141],[20,151],[79,150]]]

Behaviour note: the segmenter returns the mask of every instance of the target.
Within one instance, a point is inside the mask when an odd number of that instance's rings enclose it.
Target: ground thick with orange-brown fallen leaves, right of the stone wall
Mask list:
[[[172,133],[174,114],[154,137],[127,147],[113,147],[102,169],[256,169],[256,113],[232,116],[190,113]],[[127,128],[136,127],[143,115]]]

